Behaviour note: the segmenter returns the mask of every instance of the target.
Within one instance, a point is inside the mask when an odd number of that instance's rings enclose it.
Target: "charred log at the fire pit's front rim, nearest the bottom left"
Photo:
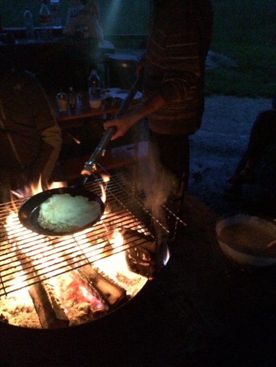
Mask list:
[[[61,302],[48,281],[30,285],[29,294],[42,328],[63,328],[69,325]]]

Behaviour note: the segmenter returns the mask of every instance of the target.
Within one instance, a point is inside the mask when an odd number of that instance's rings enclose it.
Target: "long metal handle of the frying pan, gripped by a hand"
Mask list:
[[[131,102],[133,101],[135,94],[137,93],[139,82],[140,82],[140,77],[138,77],[136,81],[134,82],[134,84],[132,85],[130,92],[128,93],[126,98],[123,100],[114,118],[120,117],[127,111]],[[81,185],[85,185],[89,176],[95,170],[96,162],[101,157],[103,151],[105,150],[106,146],[110,142],[110,139],[112,135],[115,133],[115,131],[116,131],[115,127],[110,127],[109,129],[106,130],[100,143],[98,144],[98,146],[96,147],[92,155],[90,156],[89,160],[85,163],[85,166],[81,172],[81,175],[83,176]]]

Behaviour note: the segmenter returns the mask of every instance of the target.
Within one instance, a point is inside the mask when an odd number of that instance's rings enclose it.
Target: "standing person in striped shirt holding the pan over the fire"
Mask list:
[[[147,118],[150,149],[164,172],[188,186],[189,139],[204,111],[204,66],[211,39],[210,0],[153,0],[145,55],[143,103],[128,115],[105,123],[115,126],[112,140]]]

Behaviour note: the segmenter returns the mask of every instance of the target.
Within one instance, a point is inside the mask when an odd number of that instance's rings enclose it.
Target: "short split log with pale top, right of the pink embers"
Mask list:
[[[90,286],[97,290],[110,308],[116,308],[128,300],[126,289],[103,277],[90,265],[80,268],[79,274]]]

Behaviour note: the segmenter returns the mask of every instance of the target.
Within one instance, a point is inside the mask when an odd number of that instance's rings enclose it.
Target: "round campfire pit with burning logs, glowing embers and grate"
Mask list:
[[[73,235],[24,228],[17,211],[25,198],[0,205],[1,322],[63,328],[93,321],[135,297],[166,263],[168,228],[145,210],[128,175],[106,181],[86,185],[107,200],[101,220]]]

